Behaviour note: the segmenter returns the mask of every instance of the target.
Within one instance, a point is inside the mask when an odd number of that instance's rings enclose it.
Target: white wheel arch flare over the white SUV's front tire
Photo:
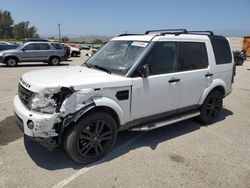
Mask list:
[[[117,102],[108,97],[92,97],[92,99],[96,106],[106,106],[112,108],[117,113],[120,124],[125,124],[124,112]]]

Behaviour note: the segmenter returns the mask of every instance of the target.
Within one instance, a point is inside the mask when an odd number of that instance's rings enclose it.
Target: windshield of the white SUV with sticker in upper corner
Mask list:
[[[90,68],[101,67],[110,73],[125,75],[147,46],[148,42],[143,41],[110,41],[97,51],[86,64]]]

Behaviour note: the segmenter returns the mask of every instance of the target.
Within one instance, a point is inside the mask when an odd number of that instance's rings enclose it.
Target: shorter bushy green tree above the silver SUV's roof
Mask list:
[[[20,40],[23,38],[38,38],[37,28],[35,26],[29,27],[29,22],[20,22],[13,27],[13,36]]]

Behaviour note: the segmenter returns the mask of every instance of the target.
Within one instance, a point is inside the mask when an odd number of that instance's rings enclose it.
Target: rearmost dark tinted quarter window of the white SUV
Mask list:
[[[232,54],[229,42],[222,36],[209,36],[214,50],[216,64],[226,64],[232,62]]]

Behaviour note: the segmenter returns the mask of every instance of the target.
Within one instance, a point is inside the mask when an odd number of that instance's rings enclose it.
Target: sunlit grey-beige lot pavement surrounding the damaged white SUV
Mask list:
[[[216,123],[188,120],[145,133],[122,132],[113,152],[89,166],[75,164],[60,148],[49,152],[16,127],[12,99],[18,80],[43,68],[53,67],[0,67],[0,187],[250,187],[249,60],[237,67]]]

